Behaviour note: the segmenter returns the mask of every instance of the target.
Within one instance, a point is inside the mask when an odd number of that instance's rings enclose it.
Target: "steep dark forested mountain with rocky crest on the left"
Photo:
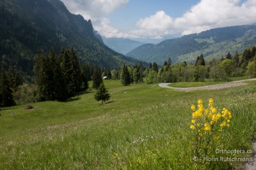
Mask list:
[[[71,48],[81,62],[100,67],[120,67],[137,60],[104,45],[91,20],[70,13],[60,0],[0,1],[1,66],[19,66],[31,73],[37,50],[56,52]]]

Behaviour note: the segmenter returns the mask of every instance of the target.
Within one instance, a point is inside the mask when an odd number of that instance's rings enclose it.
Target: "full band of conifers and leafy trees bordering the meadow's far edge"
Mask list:
[[[97,65],[80,62],[74,48],[62,48],[56,54],[54,48],[44,53],[38,51],[33,66],[33,76],[28,82],[16,65],[1,65],[0,106],[33,103],[38,101],[66,101],[69,97],[87,89],[98,89],[103,82],[120,80],[123,85],[131,83],[171,83],[182,81],[230,81],[232,77],[256,77],[256,48],[250,46],[242,53],[230,53],[220,59],[207,62],[204,55],[196,58],[195,63],[186,61],[172,64],[169,58],[163,66],[156,62],[143,66],[122,66],[118,69],[100,69]],[[2,62],[3,63],[3,62]],[[54,81],[52,81],[54,80]],[[92,87],[88,81],[93,81]]]

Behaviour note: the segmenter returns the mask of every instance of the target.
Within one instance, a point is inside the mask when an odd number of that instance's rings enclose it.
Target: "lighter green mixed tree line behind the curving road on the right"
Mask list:
[[[256,48],[251,46],[244,52],[233,56],[228,52],[220,59],[206,62],[204,55],[196,58],[195,63],[181,62],[172,64],[170,59],[159,69],[148,67],[144,71],[147,83],[172,83],[181,81],[230,81],[231,77],[256,77]]]

